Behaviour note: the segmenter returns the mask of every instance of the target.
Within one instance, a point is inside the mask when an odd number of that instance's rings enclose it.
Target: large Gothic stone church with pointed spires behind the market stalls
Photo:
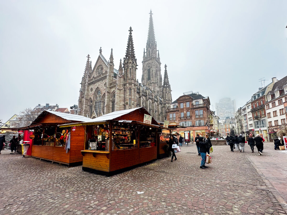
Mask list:
[[[162,81],[152,11],[150,11],[148,40],[142,61],[141,83],[136,77],[138,65],[132,31],[130,27],[126,54],[123,62],[120,60],[118,70],[114,68],[113,49],[107,61],[100,48],[100,54],[93,68],[90,55],[87,56],[78,100],[78,107],[81,108],[80,115],[96,118],[114,111],[145,107],[156,120],[166,119],[166,109],[172,102],[171,88],[166,65]]]

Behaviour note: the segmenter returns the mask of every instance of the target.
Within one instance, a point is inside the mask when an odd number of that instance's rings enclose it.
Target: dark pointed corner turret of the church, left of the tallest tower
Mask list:
[[[137,99],[137,59],[135,58],[135,50],[133,47],[133,36],[129,28],[129,38],[127,41],[127,51],[123,61],[124,70],[124,104],[125,109],[136,107]]]

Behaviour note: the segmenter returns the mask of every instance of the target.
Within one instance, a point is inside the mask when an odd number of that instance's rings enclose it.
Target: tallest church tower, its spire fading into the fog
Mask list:
[[[141,83],[154,91],[155,95],[161,95],[161,73],[160,54],[156,48],[156,38],[154,36],[154,23],[152,21],[152,10],[150,10],[150,23],[148,27],[148,40],[143,56],[143,73]]]

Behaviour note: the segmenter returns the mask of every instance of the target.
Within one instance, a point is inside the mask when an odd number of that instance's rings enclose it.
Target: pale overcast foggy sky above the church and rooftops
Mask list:
[[[238,108],[260,78],[287,75],[287,1],[0,1],[0,119],[77,104],[86,56],[113,48],[118,69],[130,26],[141,81],[150,9],[173,100],[198,91]]]

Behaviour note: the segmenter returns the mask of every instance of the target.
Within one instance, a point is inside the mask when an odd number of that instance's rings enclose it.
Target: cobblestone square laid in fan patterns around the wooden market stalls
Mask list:
[[[177,161],[112,177],[1,151],[0,214],[286,214],[252,162],[257,153],[214,146],[213,163],[199,169],[196,147],[181,149]]]

